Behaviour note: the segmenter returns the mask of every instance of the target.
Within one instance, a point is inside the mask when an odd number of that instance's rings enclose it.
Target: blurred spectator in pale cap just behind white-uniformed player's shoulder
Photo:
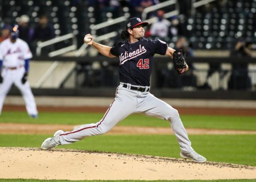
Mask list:
[[[19,37],[30,45],[33,29],[29,27],[29,17],[27,15],[20,16],[19,20]]]

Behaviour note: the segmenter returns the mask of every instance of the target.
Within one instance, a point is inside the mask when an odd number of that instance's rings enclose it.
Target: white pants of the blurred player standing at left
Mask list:
[[[8,94],[12,84],[15,84],[17,88],[20,90],[23,99],[26,103],[26,110],[29,115],[37,115],[38,111],[36,109],[36,102],[34,96],[32,94],[31,88],[29,86],[29,82],[22,84],[21,79],[25,72],[24,67],[16,68],[15,70],[10,70],[8,68],[4,68],[2,70],[3,82],[0,84],[0,114],[2,112],[2,107],[4,104],[4,99]]]

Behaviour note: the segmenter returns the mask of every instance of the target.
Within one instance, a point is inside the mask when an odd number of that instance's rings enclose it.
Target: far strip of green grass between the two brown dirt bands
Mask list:
[[[38,119],[32,119],[26,112],[5,111],[0,115],[0,123],[86,124],[96,123],[103,115],[104,113],[40,112]],[[185,127],[256,130],[256,116],[180,115],[180,117]],[[168,121],[141,114],[130,115],[118,125],[170,127]]]

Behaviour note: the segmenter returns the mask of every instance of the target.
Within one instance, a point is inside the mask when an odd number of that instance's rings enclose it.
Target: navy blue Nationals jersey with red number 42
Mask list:
[[[119,42],[110,49],[119,57],[120,82],[138,86],[150,86],[154,54],[165,55],[168,45],[159,39],[141,38],[134,43]]]

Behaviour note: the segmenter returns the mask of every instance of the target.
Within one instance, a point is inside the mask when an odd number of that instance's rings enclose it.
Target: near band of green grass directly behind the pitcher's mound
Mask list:
[[[0,147],[40,147],[48,136],[0,135]],[[256,166],[255,135],[191,135],[190,140],[209,161]],[[98,135],[58,148],[180,158],[173,135]]]

